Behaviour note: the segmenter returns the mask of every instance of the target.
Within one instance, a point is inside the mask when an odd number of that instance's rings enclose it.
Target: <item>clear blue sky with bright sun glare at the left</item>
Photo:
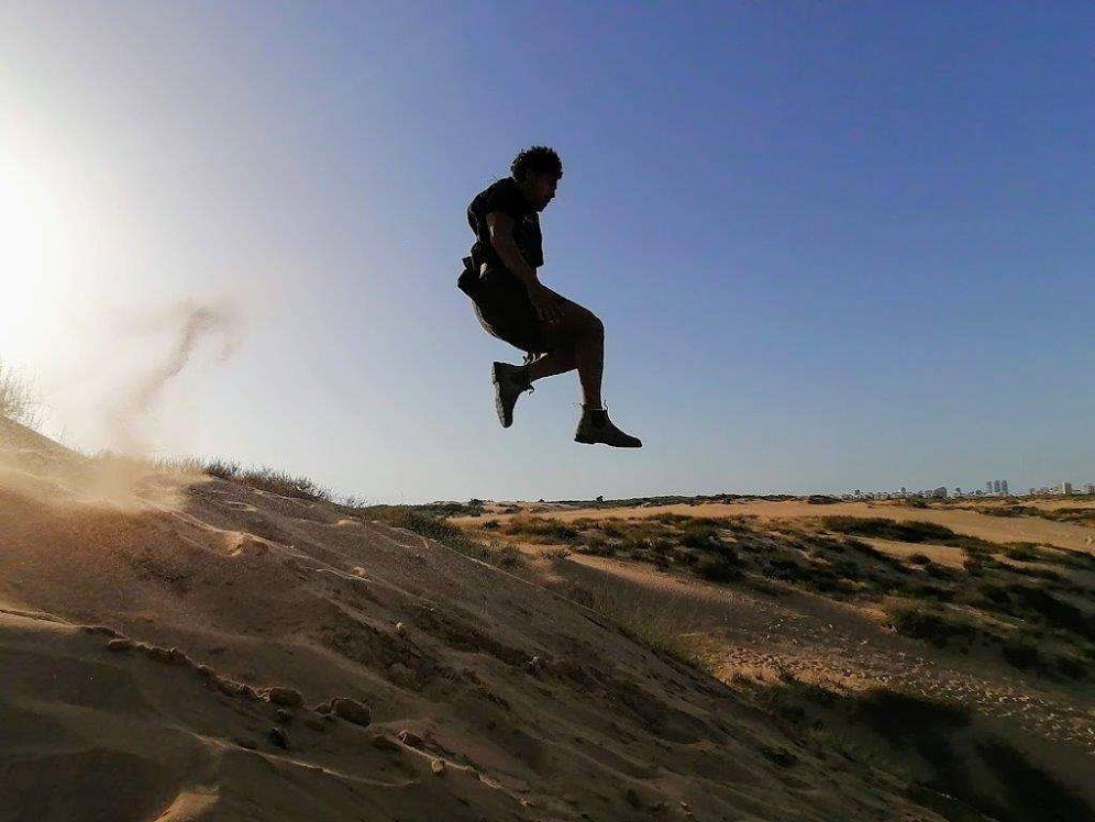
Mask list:
[[[439,10],[439,5],[442,8]],[[0,357],[373,501],[1095,481],[1086,3],[7,3]],[[494,416],[468,200],[563,157],[542,279],[606,322]]]

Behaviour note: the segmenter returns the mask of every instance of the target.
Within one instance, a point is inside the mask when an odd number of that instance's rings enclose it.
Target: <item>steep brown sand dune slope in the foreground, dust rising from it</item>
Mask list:
[[[5,436],[4,822],[941,819],[409,532],[223,481],[122,504]]]

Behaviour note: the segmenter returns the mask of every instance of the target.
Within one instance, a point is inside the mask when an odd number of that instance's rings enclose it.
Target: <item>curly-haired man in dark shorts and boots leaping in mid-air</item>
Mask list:
[[[554,199],[563,164],[553,149],[532,146],[517,155],[510,173],[467,208],[475,244],[457,284],[486,332],[526,352],[523,365],[494,364],[498,419],[508,429],[518,397],[535,380],[576,368],[583,404],[575,442],[640,448],[642,442],[616,427],[601,404],[604,323],[537,276],[544,263],[539,212]]]

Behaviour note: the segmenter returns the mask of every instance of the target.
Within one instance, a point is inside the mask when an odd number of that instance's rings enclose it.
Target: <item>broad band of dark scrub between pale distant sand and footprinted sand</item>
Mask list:
[[[885,516],[657,513],[561,521],[523,514],[468,533],[644,562],[765,593],[798,589],[881,607],[900,634],[937,648],[996,653],[1050,679],[1087,679],[1095,664],[1095,590],[1085,582],[1095,557],[1077,551],[994,543],[938,523]],[[865,540],[904,549],[887,552]],[[938,546],[963,558],[936,562],[927,552]]]

